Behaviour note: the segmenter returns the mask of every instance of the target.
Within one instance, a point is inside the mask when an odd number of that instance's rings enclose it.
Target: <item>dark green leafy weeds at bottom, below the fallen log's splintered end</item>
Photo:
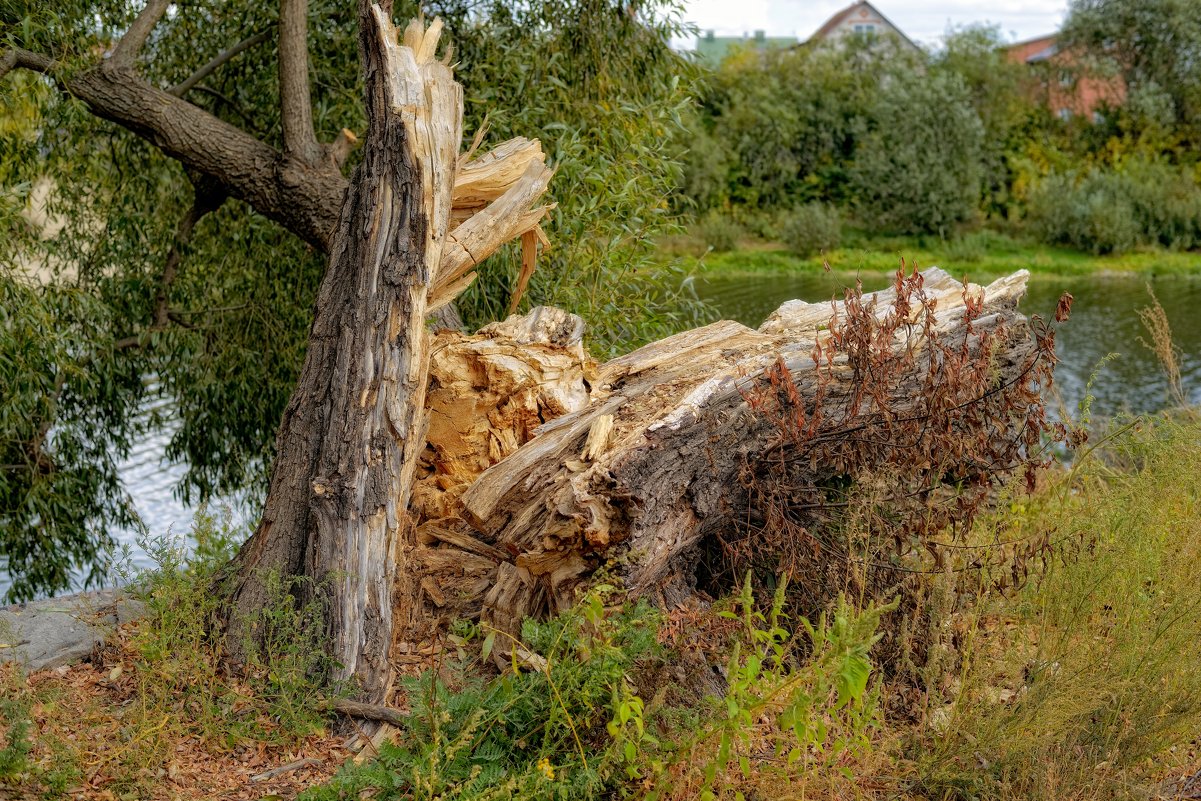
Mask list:
[[[607,615],[605,590],[575,610],[521,628],[538,654],[492,681],[455,665],[455,689],[435,673],[405,682],[413,713],[398,745],[347,765],[309,801],[358,799],[597,797],[627,773],[649,735],[629,673],[655,650],[656,615],[645,603]],[[497,636],[485,639],[485,654]],[[543,663],[542,659],[545,662]],[[545,666],[527,666],[527,665]],[[602,747],[597,739],[609,735]],[[587,743],[587,746],[585,746]],[[627,749],[629,746],[629,749]]]

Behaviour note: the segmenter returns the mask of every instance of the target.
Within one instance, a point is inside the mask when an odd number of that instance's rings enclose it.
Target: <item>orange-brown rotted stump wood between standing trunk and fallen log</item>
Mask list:
[[[596,364],[582,346],[584,322],[537,307],[476,335],[438,333],[430,348],[429,434],[412,512],[416,569],[430,620],[478,617],[484,594],[512,555],[478,538],[459,497],[486,468],[528,442],[545,420],[588,402]],[[396,665],[423,665],[418,642],[399,642]]]

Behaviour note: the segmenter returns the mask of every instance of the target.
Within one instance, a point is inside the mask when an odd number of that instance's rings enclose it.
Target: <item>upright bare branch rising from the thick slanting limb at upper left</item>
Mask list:
[[[309,2],[280,0],[280,118],[283,154],[315,165],[321,159],[309,92]]]

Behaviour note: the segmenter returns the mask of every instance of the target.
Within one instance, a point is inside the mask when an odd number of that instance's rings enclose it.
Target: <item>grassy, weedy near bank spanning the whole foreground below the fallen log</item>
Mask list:
[[[827,551],[852,591],[885,552],[865,536],[870,497],[856,503],[837,534],[847,560]],[[331,736],[327,691],[306,679],[323,665],[303,612],[264,616],[276,652],[245,676],[220,668],[204,621],[229,537],[203,520],[196,536],[191,563],[159,549],[161,569],[137,585],[149,616],[91,664],[4,669],[0,788],[1050,801],[1201,784],[1195,413],[1094,434],[1070,468],[999,500],[946,562],[914,573],[892,611],[858,592],[799,610],[783,581],[758,574],[711,608],[667,612],[602,587],[527,623],[544,662],[500,676],[486,657],[495,635],[460,622],[441,664],[407,681],[412,716],[395,745],[358,761]],[[698,658],[718,666],[724,700],[677,685]]]

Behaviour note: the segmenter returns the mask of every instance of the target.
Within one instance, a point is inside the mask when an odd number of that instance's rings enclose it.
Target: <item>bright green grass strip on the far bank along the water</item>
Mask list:
[[[997,276],[1027,269],[1034,276],[1127,273],[1201,276],[1201,252],[1147,249],[1097,256],[1065,247],[1052,247],[993,232],[978,232],[957,239],[937,237],[872,237],[852,232],[846,241],[825,253],[801,256],[779,243],[737,239],[723,250],[709,251],[698,234],[662,243],[664,257],[682,257],[701,273],[799,273],[820,271],[826,265],[837,273],[888,274],[901,259],[920,268],[942,267],[952,275]]]

